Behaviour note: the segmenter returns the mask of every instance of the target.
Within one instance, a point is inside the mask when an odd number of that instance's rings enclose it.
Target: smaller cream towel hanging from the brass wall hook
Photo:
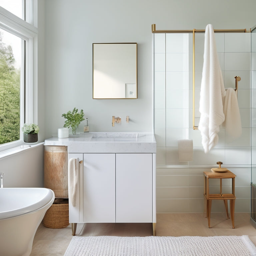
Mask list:
[[[225,114],[225,129],[228,135],[228,140],[232,141],[242,134],[237,96],[233,88],[227,88],[223,111]]]

